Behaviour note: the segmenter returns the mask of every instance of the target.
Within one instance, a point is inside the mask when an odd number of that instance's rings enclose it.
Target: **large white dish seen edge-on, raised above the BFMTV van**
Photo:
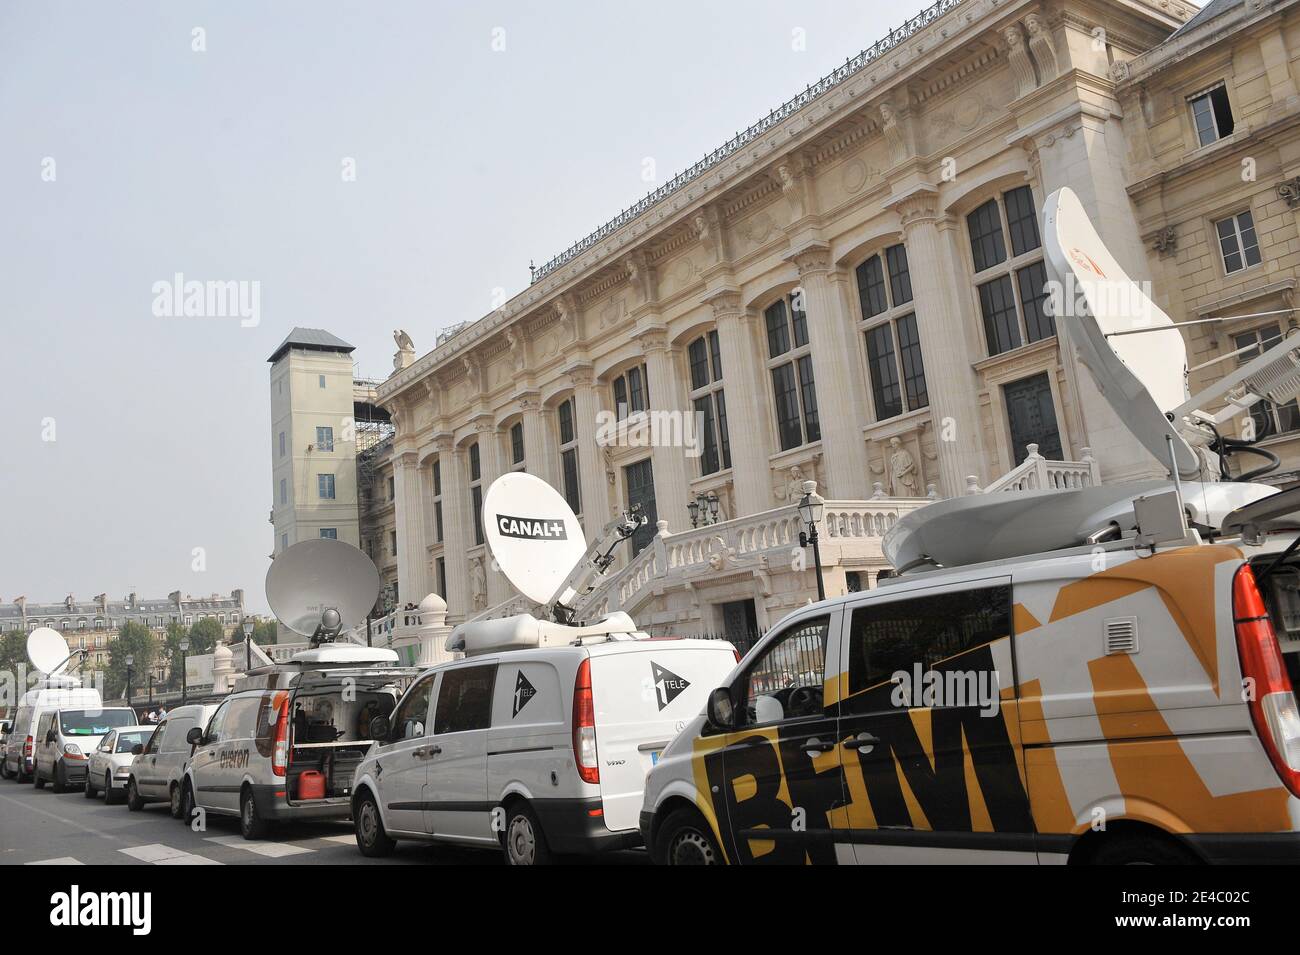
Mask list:
[[[1043,244],[1067,305],[1057,330],[1075,346],[1110,407],[1157,461],[1195,478],[1200,460],[1166,417],[1187,395],[1187,344],[1174,320],[1128,278],[1069,187],[1043,208]],[[1084,309],[1075,308],[1083,299]],[[1080,313],[1082,312],[1082,313]],[[1141,330],[1143,334],[1123,334]],[[1117,334],[1118,333],[1118,334]]]

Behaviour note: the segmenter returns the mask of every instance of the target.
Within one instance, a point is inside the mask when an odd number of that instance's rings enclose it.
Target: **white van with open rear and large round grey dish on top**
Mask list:
[[[266,572],[277,618],[311,638],[289,663],[242,677],[186,741],[194,754],[178,793],[179,817],[196,809],[238,816],[247,839],[283,820],[347,819],[352,774],[419,669],[386,648],[335,642],[365,618],[380,592],[374,564],[343,541],[294,544]]]

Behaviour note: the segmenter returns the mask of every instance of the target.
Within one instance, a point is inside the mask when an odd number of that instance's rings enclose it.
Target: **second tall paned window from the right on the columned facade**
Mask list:
[[[883,259],[871,256],[857,268],[857,278],[876,421],[928,407],[906,247],[890,246]]]

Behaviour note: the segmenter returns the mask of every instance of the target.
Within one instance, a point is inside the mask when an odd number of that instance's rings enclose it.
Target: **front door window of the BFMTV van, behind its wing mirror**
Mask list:
[[[737,725],[820,716],[829,633],[829,617],[801,620],[763,651],[742,680],[745,699],[737,712]]]

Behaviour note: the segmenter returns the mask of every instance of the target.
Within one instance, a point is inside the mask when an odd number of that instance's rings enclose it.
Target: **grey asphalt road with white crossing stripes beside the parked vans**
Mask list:
[[[612,852],[577,864],[647,864],[644,851]],[[399,842],[387,859],[356,848],[352,824],[295,822],[270,838],[248,842],[239,821],[208,816],[207,832],[172,819],[165,804],[131,812],[78,790],[56,795],[47,786],[0,780],[0,864],[5,865],[500,865],[499,851]]]

